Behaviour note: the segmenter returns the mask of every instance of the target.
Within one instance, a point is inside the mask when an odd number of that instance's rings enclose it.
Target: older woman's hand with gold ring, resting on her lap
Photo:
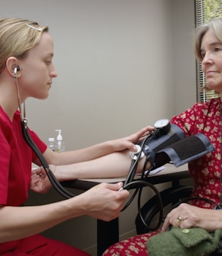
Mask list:
[[[162,225],[162,231],[172,225],[180,228],[204,228],[207,231],[215,231],[221,228],[222,212],[220,210],[199,208],[182,203],[171,210]]]

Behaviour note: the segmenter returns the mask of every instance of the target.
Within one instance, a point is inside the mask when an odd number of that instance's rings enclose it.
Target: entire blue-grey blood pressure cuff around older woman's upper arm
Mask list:
[[[142,146],[146,162],[150,162],[152,169],[158,168],[167,162],[173,162],[176,167],[190,162],[214,150],[207,136],[198,133],[185,137],[184,131],[174,123],[167,134],[154,138],[149,137]]]

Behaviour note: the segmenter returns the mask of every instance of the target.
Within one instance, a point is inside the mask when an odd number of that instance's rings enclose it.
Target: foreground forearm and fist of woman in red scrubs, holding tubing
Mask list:
[[[0,242],[25,238],[80,215],[103,221],[119,216],[129,192],[122,183],[96,185],[72,199],[40,206],[0,206]]]

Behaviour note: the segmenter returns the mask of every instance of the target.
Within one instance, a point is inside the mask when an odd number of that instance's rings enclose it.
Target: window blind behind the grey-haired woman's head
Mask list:
[[[203,25],[212,18],[222,17],[222,0],[195,0],[195,20],[196,26]],[[206,102],[212,97],[218,97],[214,90],[204,90],[206,81],[201,68],[201,63],[197,61],[197,94],[198,101]]]

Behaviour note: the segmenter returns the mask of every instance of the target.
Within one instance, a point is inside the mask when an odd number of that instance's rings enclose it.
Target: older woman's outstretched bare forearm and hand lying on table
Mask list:
[[[131,162],[129,150],[125,150],[87,162],[77,162],[64,166],[50,165],[50,169],[60,182],[69,179],[116,178],[126,176],[129,173]],[[142,172],[144,162],[145,157],[139,159],[137,172]],[[150,163],[148,162],[147,168],[149,166]],[[41,178],[39,177],[40,173],[42,173]],[[43,189],[36,189],[41,186]],[[31,176],[31,189],[36,192],[47,192],[49,187],[51,184],[44,173],[44,169],[34,169]]]

